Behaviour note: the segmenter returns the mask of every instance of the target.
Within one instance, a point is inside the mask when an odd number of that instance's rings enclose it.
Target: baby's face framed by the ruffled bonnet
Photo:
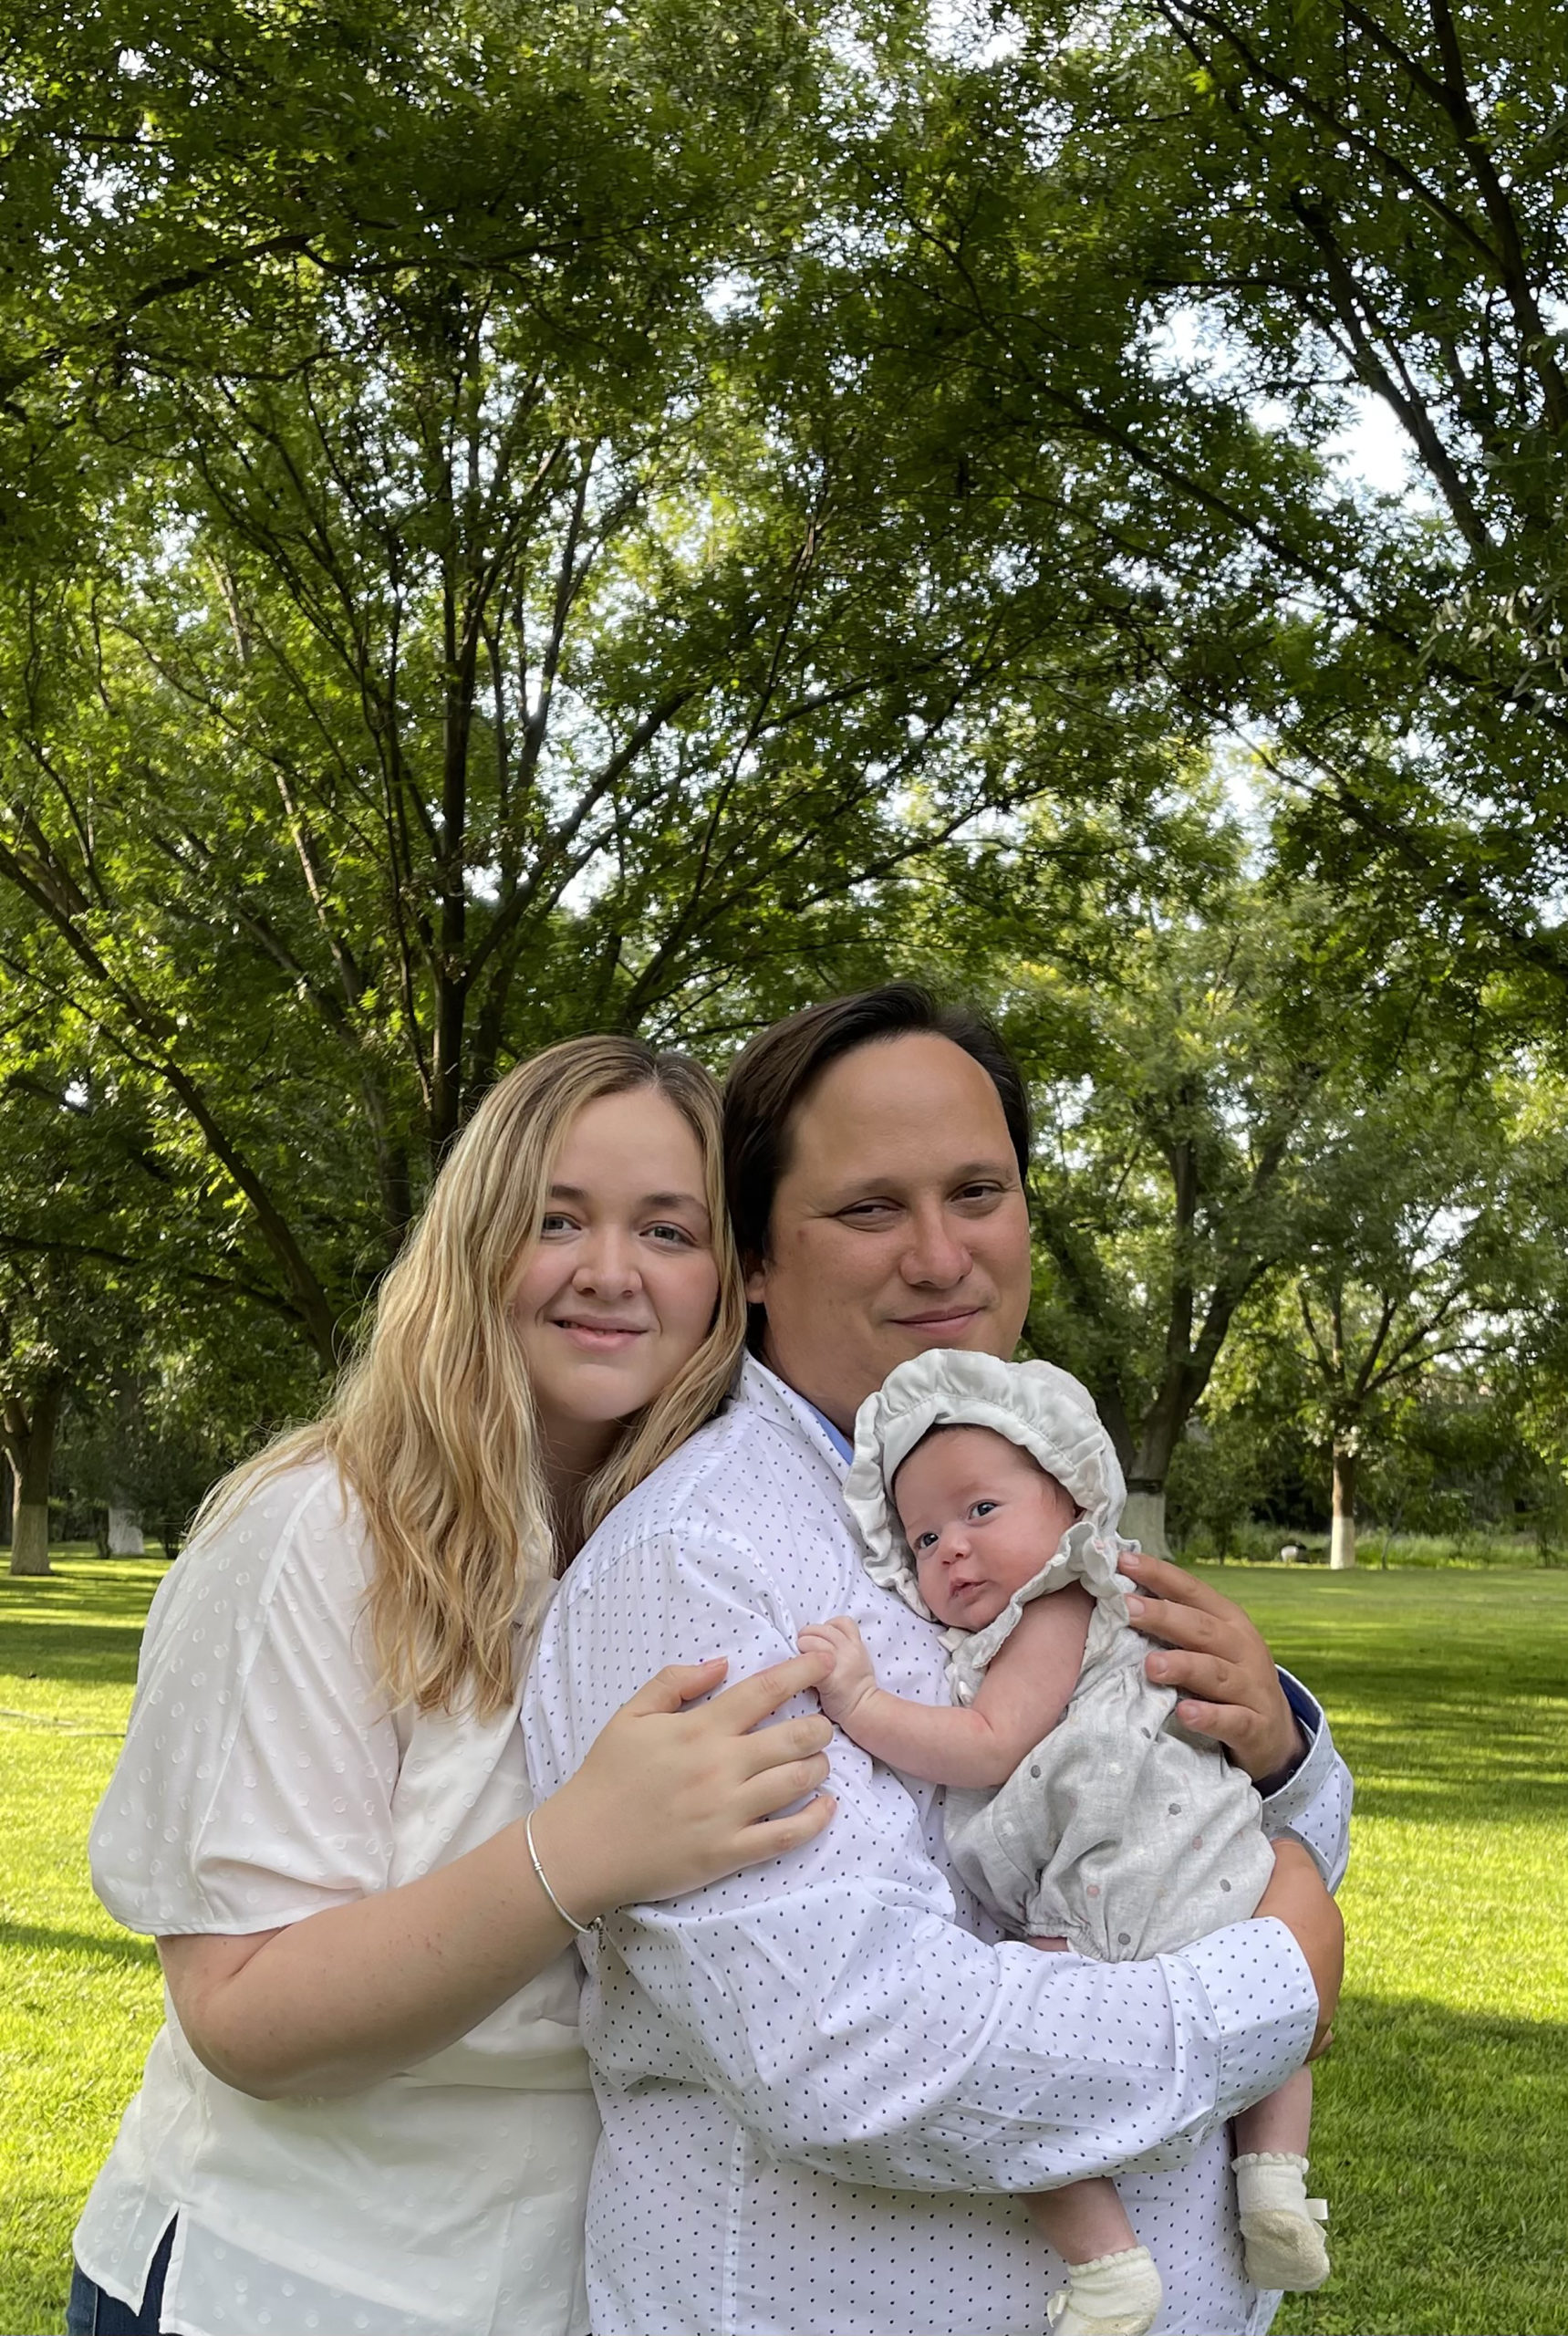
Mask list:
[[[1038,1460],[993,1427],[925,1437],[893,1481],[921,1598],[937,1621],[984,1631],[1056,1556],[1077,1509]]]

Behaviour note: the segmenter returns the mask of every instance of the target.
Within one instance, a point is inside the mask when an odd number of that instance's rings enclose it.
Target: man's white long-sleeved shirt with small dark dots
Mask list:
[[[535,1789],[661,1663],[727,1654],[738,1680],[827,1614],[853,1614],[893,1694],[944,1698],[942,1640],[869,1581],[841,1479],[820,1418],[748,1360],[544,1621]],[[1267,1815],[1337,1878],[1348,1778],[1297,1708],[1313,1745]],[[596,2336],[1038,2336],[1063,2273],[1019,2194],[1101,2172],[1161,2268],[1159,2329],[1260,2336],[1276,2299],[1241,2268],[1224,2123],[1311,2044],[1290,1932],[1236,1923],[1124,1965],[998,1944],[946,1871],[937,1792],[844,1736],[832,1771],[839,1813],[806,1850],[587,1946]]]

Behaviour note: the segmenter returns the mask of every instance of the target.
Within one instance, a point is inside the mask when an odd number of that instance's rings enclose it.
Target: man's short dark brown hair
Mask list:
[[[911,1035],[946,1037],[979,1063],[1002,1105],[1019,1175],[1028,1175],[1024,1075],[984,1014],[942,1004],[918,981],[830,997],[759,1030],[724,1082],[724,1184],[745,1268],[766,1257],[773,1196],[790,1166],[790,1131],[816,1082],[858,1047]]]

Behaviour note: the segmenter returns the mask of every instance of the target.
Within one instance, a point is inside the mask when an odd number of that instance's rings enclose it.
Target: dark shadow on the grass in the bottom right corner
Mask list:
[[[1334,2278],[1276,2336],[1566,2336],[1568,2023],[1346,1997],[1311,2189]]]

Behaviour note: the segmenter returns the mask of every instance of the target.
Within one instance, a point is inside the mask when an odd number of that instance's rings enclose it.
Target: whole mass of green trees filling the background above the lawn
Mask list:
[[[1028,1339],[1154,1546],[1166,1497],[1556,1530],[1566,49],[1442,0],[19,28],[14,1567],[51,1486],[173,1537],[320,1399],[507,1063],[722,1068],[890,969],[1026,1061]]]

